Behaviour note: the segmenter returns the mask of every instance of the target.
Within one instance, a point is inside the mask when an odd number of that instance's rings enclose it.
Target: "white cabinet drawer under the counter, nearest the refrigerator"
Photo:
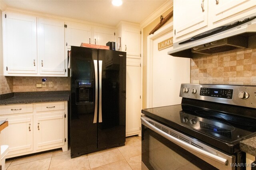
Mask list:
[[[64,110],[64,102],[46,102],[36,104],[36,111]]]

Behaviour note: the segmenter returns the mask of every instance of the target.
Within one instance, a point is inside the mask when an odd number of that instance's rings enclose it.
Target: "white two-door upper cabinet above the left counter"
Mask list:
[[[3,12],[5,76],[68,76],[64,21]]]

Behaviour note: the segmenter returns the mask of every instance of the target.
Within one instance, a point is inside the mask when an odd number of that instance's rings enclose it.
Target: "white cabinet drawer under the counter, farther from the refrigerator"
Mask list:
[[[33,112],[33,104],[10,104],[0,106],[1,115],[31,113]]]

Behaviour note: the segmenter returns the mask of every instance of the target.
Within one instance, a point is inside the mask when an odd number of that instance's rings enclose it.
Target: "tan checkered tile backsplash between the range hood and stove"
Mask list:
[[[191,59],[191,83],[256,85],[256,47]]]

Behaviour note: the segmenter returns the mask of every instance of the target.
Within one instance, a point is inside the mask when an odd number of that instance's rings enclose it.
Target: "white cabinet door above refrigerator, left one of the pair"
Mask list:
[[[67,47],[80,47],[81,43],[93,43],[92,27],[83,23],[67,23]]]

